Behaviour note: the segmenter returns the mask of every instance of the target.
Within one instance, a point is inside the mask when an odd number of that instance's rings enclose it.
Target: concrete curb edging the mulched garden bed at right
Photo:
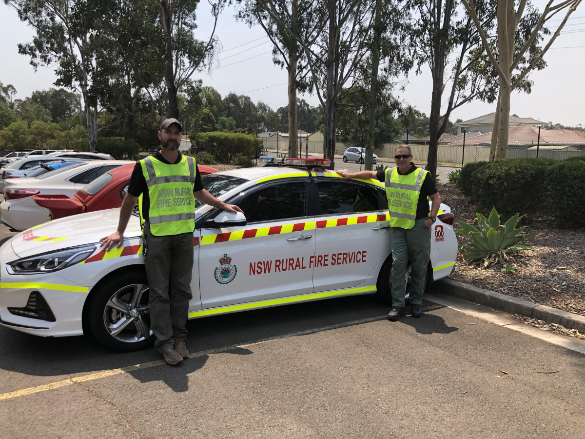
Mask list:
[[[567,329],[576,329],[585,334],[585,317],[579,314],[567,313],[545,305],[537,305],[529,300],[517,299],[495,291],[477,288],[452,279],[441,279],[433,283],[433,288],[442,293],[462,297],[474,303],[504,311],[510,314],[522,314],[532,318],[563,325]]]

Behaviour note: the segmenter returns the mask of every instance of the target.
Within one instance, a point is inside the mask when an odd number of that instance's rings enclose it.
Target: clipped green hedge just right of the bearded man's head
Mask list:
[[[218,163],[231,163],[235,160],[236,155],[247,157],[251,163],[252,157],[257,152],[260,140],[253,135],[238,133],[190,133],[191,153],[201,151],[211,154]],[[244,163],[241,157],[239,163]],[[243,165],[239,165],[243,166]]]

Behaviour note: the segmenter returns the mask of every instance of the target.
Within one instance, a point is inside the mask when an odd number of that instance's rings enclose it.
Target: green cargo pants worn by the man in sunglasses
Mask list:
[[[406,269],[410,261],[410,303],[422,304],[422,293],[426,284],[426,267],[431,259],[431,228],[425,225],[425,219],[417,219],[414,227],[392,228],[392,306],[404,307],[406,290]]]

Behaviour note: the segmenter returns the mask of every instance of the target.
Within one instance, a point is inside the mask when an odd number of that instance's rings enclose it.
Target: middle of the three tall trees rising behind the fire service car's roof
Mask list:
[[[286,29],[307,57],[313,90],[324,111],[324,157],[333,162],[337,105],[343,90],[360,81],[359,67],[369,53],[367,29],[373,23],[373,3],[367,0],[312,2],[311,18],[324,23],[316,40],[286,28],[281,17],[292,20],[286,0],[266,0],[266,4],[270,18]]]

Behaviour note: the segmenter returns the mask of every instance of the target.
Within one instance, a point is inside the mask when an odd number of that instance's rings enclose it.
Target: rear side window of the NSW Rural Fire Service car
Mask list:
[[[375,188],[350,181],[318,181],[321,215],[373,212],[380,208]]]

